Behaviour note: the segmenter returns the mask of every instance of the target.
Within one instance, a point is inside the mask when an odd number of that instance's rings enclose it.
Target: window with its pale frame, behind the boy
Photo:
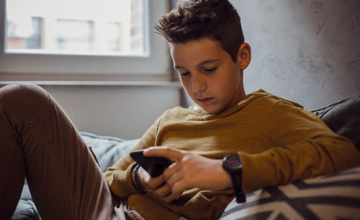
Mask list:
[[[164,0],[0,0],[0,76],[170,79]],[[117,76],[117,77],[116,77]]]

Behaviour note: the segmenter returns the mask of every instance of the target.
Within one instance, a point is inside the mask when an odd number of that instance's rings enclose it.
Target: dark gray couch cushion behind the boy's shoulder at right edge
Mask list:
[[[312,112],[333,132],[349,138],[360,151],[360,94]]]

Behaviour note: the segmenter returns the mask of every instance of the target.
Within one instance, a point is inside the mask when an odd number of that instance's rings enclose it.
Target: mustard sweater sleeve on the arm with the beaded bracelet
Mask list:
[[[122,156],[112,167],[107,168],[104,173],[107,185],[118,197],[118,199],[125,199],[132,194],[139,193],[131,181],[131,171],[136,162],[130,157],[130,152],[154,146],[160,118],[158,118],[148,131],[140,138],[140,141],[132,150]]]

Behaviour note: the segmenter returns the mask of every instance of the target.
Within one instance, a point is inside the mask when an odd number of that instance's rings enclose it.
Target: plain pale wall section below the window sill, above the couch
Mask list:
[[[179,105],[173,87],[43,86],[79,131],[139,138],[166,109]]]

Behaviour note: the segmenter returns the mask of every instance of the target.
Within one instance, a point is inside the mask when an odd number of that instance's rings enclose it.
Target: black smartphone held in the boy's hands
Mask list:
[[[152,177],[160,176],[172,164],[172,161],[166,157],[144,156],[143,150],[133,151],[130,156]]]

